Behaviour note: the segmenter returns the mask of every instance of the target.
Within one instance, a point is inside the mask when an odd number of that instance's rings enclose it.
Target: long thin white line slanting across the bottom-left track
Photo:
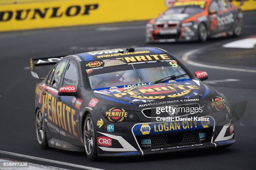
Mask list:
[[[75,168],[83,168],[85,170],[102,170],[102,169],[87,167],[87,166],[83,166],[83,165],[65,163],[65,162],[61,162],[61,161],[57,161],[57,160],[49,160],[49,159],[45,159],[45,158],[38,158],[38,157],[34,157],[34,156],[23,155],[23,154],[19,154],[19,153],[6,152],[3,150],[0,150],[0,153],[5,154],[5,155],[17,156],[17,157],[21,157],[21,158],[27,158],[27,159],[31,159],[31,160],[39,160],[39,161],[43,161],[43,162],[47,162],[47,163],[54,163],[54,164],[58,164],[58,165],[66,165],[66,166],[75,167]],[[84,159],[86,159],[85,155],[84,155]]]

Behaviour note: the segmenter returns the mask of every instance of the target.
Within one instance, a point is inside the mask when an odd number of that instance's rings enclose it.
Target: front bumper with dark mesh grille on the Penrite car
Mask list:
[[[111,147],[98,146],[98,155],[101,157],[155,155],[225,147],[235,142],[234,131],[232,133],[229,131],[230,126],[233,125],[232,120],[222,126],[215,126],[215,120],[211,117],[207,127],[203,127],[203,123],[197,122],[197,126],[191,126],[189,130],[180,128],[180,130],[159,132],[158,128],[152,129],[155,125],[164,123],[168,122],[137,123],[131,128],[130,134],[127,132],[125,134],[97,132],[97,136],[103,135],[113,141]],[[146,128],[146,131],[141,130],[141,127]],[[125,128],[130,127],[126,125]],[[146,133],[142,134],[141,131]],[[200,139],[200,133],[205,133],[204,140]],[[142,143],[142,141],[149,141],[148,139],[151,139],[150,142]]]

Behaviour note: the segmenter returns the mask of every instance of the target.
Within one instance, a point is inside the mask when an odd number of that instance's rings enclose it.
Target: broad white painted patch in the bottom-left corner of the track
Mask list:
[[[18,161],[18,160],[5,160],[5,159],[0,159],[0,168],[3,168],[3,163],[24,163],[23,161]],[[57,168],[53,166],[48,166],[48,165],[39,165],[39,164],[34,164],[34,163],[27,163],[27,166],[20,166],[20,167],[4,167],[5,170],[67,170],[63,168]]]

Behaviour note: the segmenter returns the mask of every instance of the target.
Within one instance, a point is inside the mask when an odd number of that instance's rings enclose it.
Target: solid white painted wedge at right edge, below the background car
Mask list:
[[[227,44],[222,45],[225,48],[246,48],[253,49],[255,48],[256,37],[245,38],[242,40],[236,40],[233,42],[229,42]]]

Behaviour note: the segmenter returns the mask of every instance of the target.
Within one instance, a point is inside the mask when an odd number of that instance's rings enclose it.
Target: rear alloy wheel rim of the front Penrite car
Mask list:
[[[44,117],[40,110],[36,113],[36,136],[41,145],[44,141]]]

